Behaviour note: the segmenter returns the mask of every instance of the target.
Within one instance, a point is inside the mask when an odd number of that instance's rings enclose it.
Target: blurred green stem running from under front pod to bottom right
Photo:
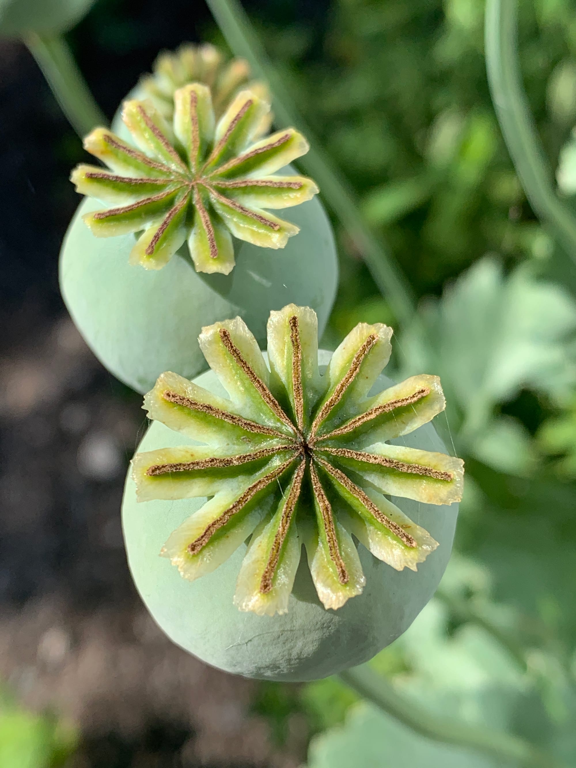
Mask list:
[[[399,694],[386,678],[370,667],[354,667],[339,674],[340,680],[383,712],[416,733],[464,749],[475,750],[499,760],[526,768],[565,768],[551,755],[516,736],[438,717],[416,701]]]

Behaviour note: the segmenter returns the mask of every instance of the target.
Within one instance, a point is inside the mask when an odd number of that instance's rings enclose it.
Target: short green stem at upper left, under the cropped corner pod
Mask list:
[[[64,38],[31,32],[25,43],[80,138],[97,125],[108,125]]]

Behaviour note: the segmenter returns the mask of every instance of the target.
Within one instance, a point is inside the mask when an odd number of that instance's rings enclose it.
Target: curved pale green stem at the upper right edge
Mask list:
[[[487,0],[485,55],[492,102],[526,197],[576,263],[576,218],[556,194],[522,84],[518,0]]]

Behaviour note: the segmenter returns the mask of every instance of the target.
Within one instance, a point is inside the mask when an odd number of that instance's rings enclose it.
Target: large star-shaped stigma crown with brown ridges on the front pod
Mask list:
[[[240,318],[203,330],[200,347],[230,399],[175,373],[158,379],[144,401],[151,419],[206,444],[133,460],[139,501],[208,497],[162,550],[185,578],[213,571],[251,537],[234,601],[285,613],[304,544],[320,601],[338,608],[365,584],[353,535],[399,571],[415,571],[435,549],[387,496],[456,502],[463,465],[387,442],[445,406],[435,376],[369,396],[391,334],[360,323],[321,376],[316,314],[289,305],[270,315],[270,369]]]

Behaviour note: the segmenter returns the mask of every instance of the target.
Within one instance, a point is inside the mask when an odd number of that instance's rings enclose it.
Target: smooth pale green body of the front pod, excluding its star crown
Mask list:
[[[320,362],[327,362],[329,353],[320,355]],[[211,371],[198,376],[196,382],[225,396]],[[378,388],[391,383],[381,376]],[[431,424],[392,442],[445,452]],[[183,435],[154,422],[138,450],[187,443],[190,441]],[[122,521],[134,583],[148,611],[174,643],[213,667],[264,680],[314,680],[336,674],[362,664],[396,640],[422,611],[442,578],[458,515],[457,504],[435,506],[392,498],[439,542],[416,573],[395,571],[359,545],[366,587],[338,611],[326,611],[316,598],[303,557],[288,613],[267,617],[242,613],[232,602],[246,545],[197,581],[184,580],[169,560],[160,557],[170,533],[204,501],[138,503],[134,482],[128,476]]]

